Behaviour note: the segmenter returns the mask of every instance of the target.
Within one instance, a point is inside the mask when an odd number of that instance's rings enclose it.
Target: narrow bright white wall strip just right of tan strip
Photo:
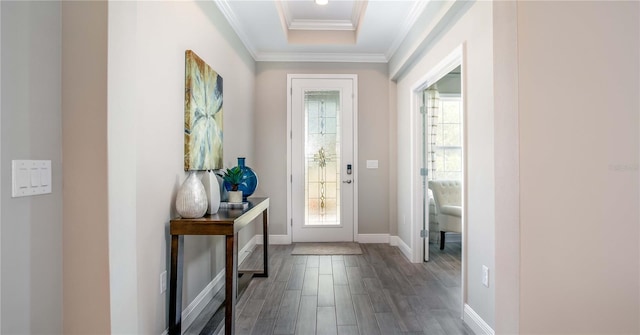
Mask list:
[[[136,187],[136,95],[144,80],[136,73],[138,18],[135,2],[111,3],[108,8],[109,80],[107,116],[108,155],[117,157],[108,162],[109,170],[109,286],[111,332],[138,333],[138,259],[137,247],[137,187]],[[122,164],[123,161],[129,164]],[[117,246],[117,247],[116,247]],[[170,272],[167,271],[169,275]],[[169,276],[167,278],[170,278]]]

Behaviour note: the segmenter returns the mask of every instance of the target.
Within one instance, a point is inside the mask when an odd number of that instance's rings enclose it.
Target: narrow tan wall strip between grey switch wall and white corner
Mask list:
[[[109,327],[107,3],[62,4],[64,333]]]

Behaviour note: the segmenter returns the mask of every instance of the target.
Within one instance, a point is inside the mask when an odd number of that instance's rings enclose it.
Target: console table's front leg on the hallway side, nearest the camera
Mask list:
[[[233,335],[235,332],[236,299],[238,296],[238,240],[237,234],[226,236],[226,264],[224,286],[224,333]]]

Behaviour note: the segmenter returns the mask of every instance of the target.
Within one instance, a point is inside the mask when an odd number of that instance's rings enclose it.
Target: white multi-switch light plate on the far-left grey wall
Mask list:
[[[12,160],[11,167],[12,197],[51,193],[50,160]]]

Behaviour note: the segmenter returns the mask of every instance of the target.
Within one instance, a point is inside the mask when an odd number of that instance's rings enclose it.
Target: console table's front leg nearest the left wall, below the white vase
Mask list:
[[[169,283],[169,334],[180,335],[182,326],[182,250],[179,235],[171,235],[171,279]]]

